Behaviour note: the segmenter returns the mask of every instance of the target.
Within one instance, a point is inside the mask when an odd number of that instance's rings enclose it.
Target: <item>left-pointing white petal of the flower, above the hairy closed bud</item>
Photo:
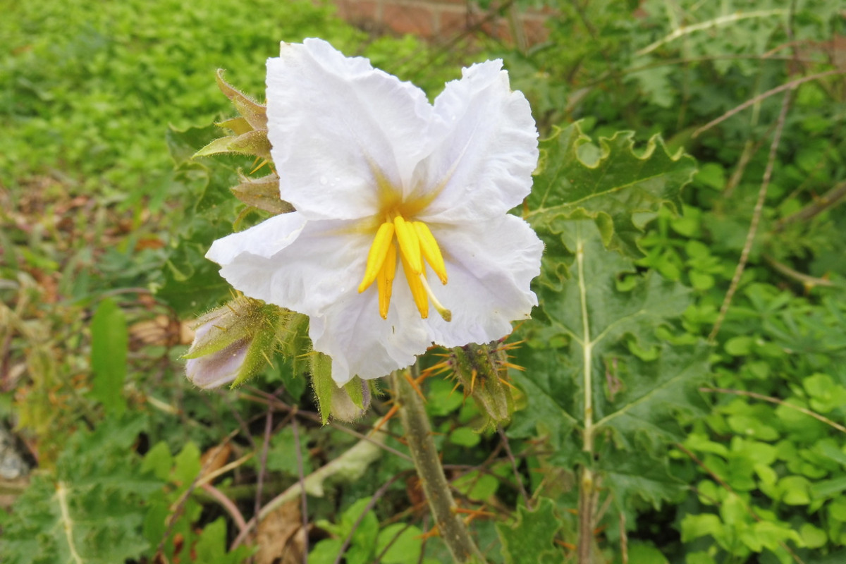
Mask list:
[[[294,211],[218,239],[206,257],[250,298],[320,315],[355,291],[372,240],[355,222],[309,222]]]

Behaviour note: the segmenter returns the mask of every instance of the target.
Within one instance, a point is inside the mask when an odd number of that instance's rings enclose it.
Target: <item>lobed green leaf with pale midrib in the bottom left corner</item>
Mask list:
[[[8,564],[113,564],[139,560],[146,500],[162,490],[133,451],[143,417],[106,419],[79,430],[56,468],[33,474],[3,524],[0,553]]]

